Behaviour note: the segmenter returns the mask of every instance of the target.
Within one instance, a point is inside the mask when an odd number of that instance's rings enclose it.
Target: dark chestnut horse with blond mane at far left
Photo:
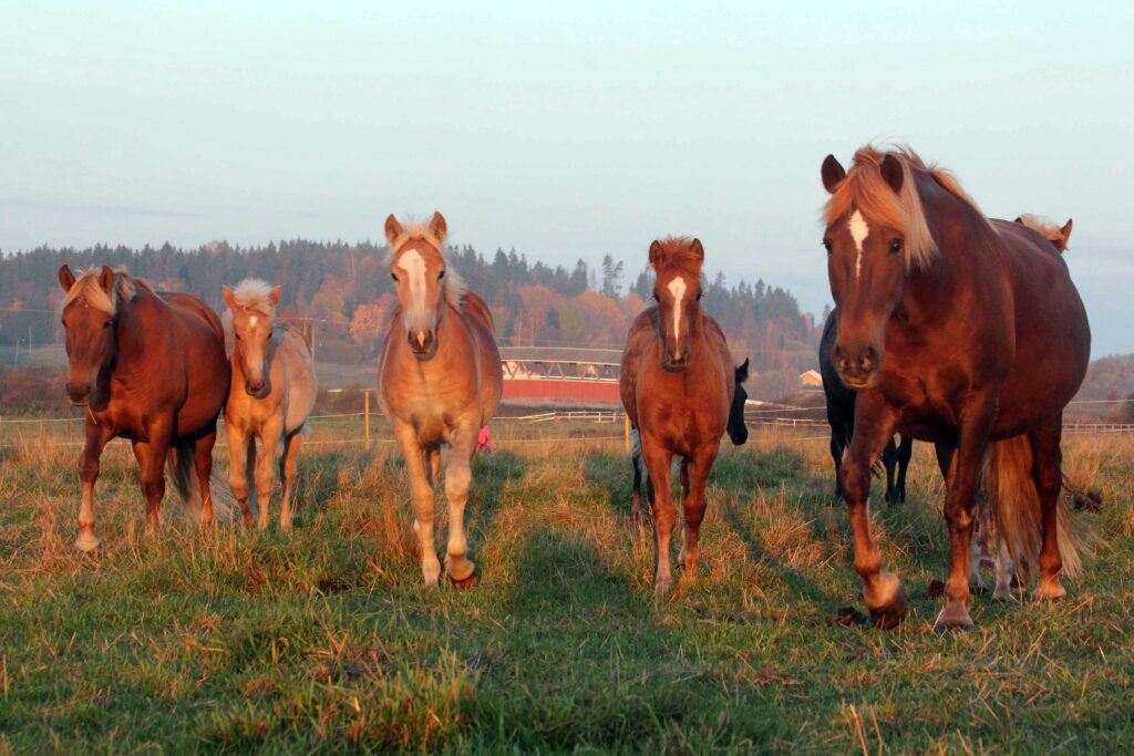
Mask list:
[[[59,284],[67,294],[67,396],[86,407],[75,545],[83,551],[101,545],[94,535],[94,483],[103,448],[119,436],[130,440],[141,468],[146,533],[160,524],[167,457],[178,493],[195,516],[200,496],[201,523],[211,525],[212,448],[229,377],[220,320],[200,299],[159,296],[125,269],[103,265],[76,278],[64,265]]]

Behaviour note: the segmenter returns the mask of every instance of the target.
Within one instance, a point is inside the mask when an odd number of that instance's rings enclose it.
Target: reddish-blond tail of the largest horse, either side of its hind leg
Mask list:
[[[989,451],[987,495],[1001,547],[1023,575],[1040,564],[1043,546],[1043,518],[1040,494],[1032,477],[1032,444],[1026,435],[992,443]],[[1063,560],[1063,574],[1075,577],[1083,571],[1083,554],[1090,554],[1094,534],[1075,517],[1060,495],[1056,503],[1056,540]]]

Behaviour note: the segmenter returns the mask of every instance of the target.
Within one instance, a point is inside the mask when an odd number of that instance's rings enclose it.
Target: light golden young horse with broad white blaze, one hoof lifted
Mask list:
[[[390,317],[378,366],[379,397],[393,423],[406,458],[414,506],[414,530],[425,584],[441,574],[433,545],[433,479],[441,444],[451,453],[445,470],[449,499],[449,579],[465,588],[476,581],[468,559],[465,502],[472,482],[469,460],[480,430],[500,404],[503,374],[493,337],[492,314],[445,258],[445,218],[403,226],[390,215],[390,275],[398,307]]]

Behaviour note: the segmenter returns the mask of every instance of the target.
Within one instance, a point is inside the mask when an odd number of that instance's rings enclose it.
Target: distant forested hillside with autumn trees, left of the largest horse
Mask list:
[[[125,265],[158,288],[195,294],[218,309],[223,283],[248,275],[281,283],[281,315],[314,329],[321,362],[364,364],[376,356],[393,300],[386,252],[369,243],[297,239],[252,248],[218,241],[192,250],[167,244],[0,256],[0,359],[11,362],[17,343],[26,351],[28,339],[33,346],[59,342],[57,273],[68,263],[76,269]],[[652,290],[649,271],[626,287],[625,263],[609,255],[601,269],[581,260],[568,270],[530,263],[515,250],[498,249],[491,258],[469,246],[449,253],[451,264],[492,306],[502,345],[620,349]],[[751,357],[759,373],[781,375],[782,383],[814,365],[814,323],[788,291],[763,281],[729,286],[718,273],[705,286],[703,304],[721,322],[734,354]]]

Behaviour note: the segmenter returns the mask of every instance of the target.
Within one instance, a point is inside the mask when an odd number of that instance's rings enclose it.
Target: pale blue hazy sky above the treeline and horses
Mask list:
[[[1074,218],[1092,351],[1134,351],[1134,3],[0,2],[6,253],[440,210],[631,278],[693,235],[818,313],[820,163],[897,142],[989,215]]]

